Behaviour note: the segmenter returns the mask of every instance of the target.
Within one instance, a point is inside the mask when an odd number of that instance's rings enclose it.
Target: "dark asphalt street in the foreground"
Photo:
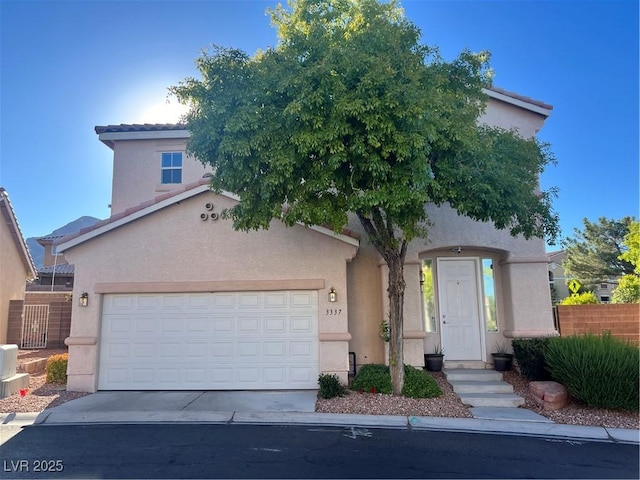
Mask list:
[[[330,426],[25,427],[2,478],[640,478],[638,445]]]

